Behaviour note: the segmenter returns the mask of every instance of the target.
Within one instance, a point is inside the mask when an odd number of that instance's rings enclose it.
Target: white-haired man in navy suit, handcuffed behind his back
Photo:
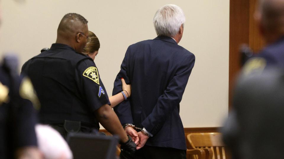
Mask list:
[[[180,101],[195,56],[178,45],[185,16],[173,4],[154,15],[158,37],[130,45],[125,53],[113,94],[121,90],[120,77],[132,85],[131,98],[114,108],[125,131],[138,143],[134,158],[186,158]]]

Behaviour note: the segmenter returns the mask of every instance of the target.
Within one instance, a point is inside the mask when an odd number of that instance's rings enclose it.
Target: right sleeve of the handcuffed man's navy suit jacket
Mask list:
[[[151,114],[141,123],[151,134],[155,135],[161,129],[167,117],[180,103],[194,63],[195,56],[193,54],[185,57],[170,80],[167,89],[158,98]]]

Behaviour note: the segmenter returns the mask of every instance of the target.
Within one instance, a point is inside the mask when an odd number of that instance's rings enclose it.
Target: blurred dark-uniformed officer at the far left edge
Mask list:
[[[17,58],[0,66],[0,158],[40,158],[35,135],[38,98],[29,78],[17,74]]]

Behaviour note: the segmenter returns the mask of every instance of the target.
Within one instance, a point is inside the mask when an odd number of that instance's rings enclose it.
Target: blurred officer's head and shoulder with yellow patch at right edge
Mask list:
[[[259,0],[258,3],[255,20],[267,47],[246,62],[245,73],[269,66],[284,68],[284,0]]]

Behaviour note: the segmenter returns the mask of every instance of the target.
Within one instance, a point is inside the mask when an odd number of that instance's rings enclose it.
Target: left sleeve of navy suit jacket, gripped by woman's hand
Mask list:
[[[127,73],[127,71],[128,71],[127,70],[128,52],[129,52],[129,47],[128,47],[126,53],[125,53],[125,57],[124,57],[122,64],[120,66],[120,72],[117,74],[117,77],[115,78],[112,95],[116,95],[117,93],[122,91],[121,78],[124,78],[124,80],[127,84],[130,83],[128,73]],[[133,118],[132,118],[129,100],[121,102],[116,107],[114,107],[113,110],[117,114],[117,116],[120,120],[120,123],[122,125],[124,125],[126,123],[133,124]]]

